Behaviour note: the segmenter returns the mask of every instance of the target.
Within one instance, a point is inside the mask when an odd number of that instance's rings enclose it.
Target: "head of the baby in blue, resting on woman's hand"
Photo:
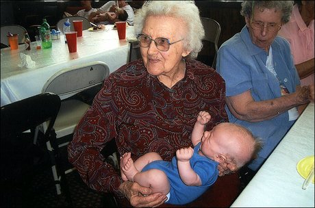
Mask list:
[[[248,129],[230,122],[216,125],[203,133],[201,152],[219,163],[233,163],[238,168],[257,157],[262,142]]]

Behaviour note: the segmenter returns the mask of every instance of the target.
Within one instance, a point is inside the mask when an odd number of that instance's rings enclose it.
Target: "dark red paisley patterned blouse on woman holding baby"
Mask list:
[[[142,60],[111,73],[79,122],[68,145],[68,159],[92,189],[112,192],[118,198],[120,172],[100,153],[114,139],[118,153],[136,159],[157,152],[170,161],[178,148],[192,146],[190,134],[197,114],[210,112],[209,131],[228,122],[225,81],[210,66],[186,60],[186,75],[173,88],[149,75]]]

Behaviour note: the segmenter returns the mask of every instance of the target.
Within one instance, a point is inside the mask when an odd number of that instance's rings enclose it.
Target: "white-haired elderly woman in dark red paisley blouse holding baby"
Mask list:
[[[194,60],[204,30],[193,1],[147,2],[136,13],[135,29],[142,59],[105,79],[75,130],[68,158],[92,189],[112,192],[118,202],[127,198],[132,206],[154,207],[166,196],[123,181],[101,150],[115,140],[120,155],[131,152],[136,160],[156,152],[170,161],[177,149],[192,146],[200,111],[212,115],[207,131],[228,121],[225,82],[210,66]]]

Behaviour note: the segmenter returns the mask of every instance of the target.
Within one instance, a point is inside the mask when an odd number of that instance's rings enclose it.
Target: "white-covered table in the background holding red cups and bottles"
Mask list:
[[[1,49],[1,106],[40,94],[42,87],[53,74],[71,66],[79,66],[92,61],[108,64],[110,73],[127,63],[129,42],[134,39],[134,27],[127,27],[127,40],[118,40],[114,25],[106,25],[103,31],[84,30],[77,38],[77,52],[69,53],[64,36],[53,40],[51,49],[36,50],[36,42],[31,42],[31,51],[24,45],[18,50]],[[20,68],[20,53],[31,56],[36,62],[34,68]]]

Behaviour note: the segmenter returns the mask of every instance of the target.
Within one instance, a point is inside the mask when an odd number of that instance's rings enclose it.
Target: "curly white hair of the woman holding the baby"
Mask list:
[[[205,31],[194,1],[147,1],[134,16],[136,34],[142,33],[144,21],[148,16],[173,16],[181,18],[187,24],[184,47],[191,51],[187,57],[196,58],[201,51]],[[162,23],[161,23],[162,24]]]

